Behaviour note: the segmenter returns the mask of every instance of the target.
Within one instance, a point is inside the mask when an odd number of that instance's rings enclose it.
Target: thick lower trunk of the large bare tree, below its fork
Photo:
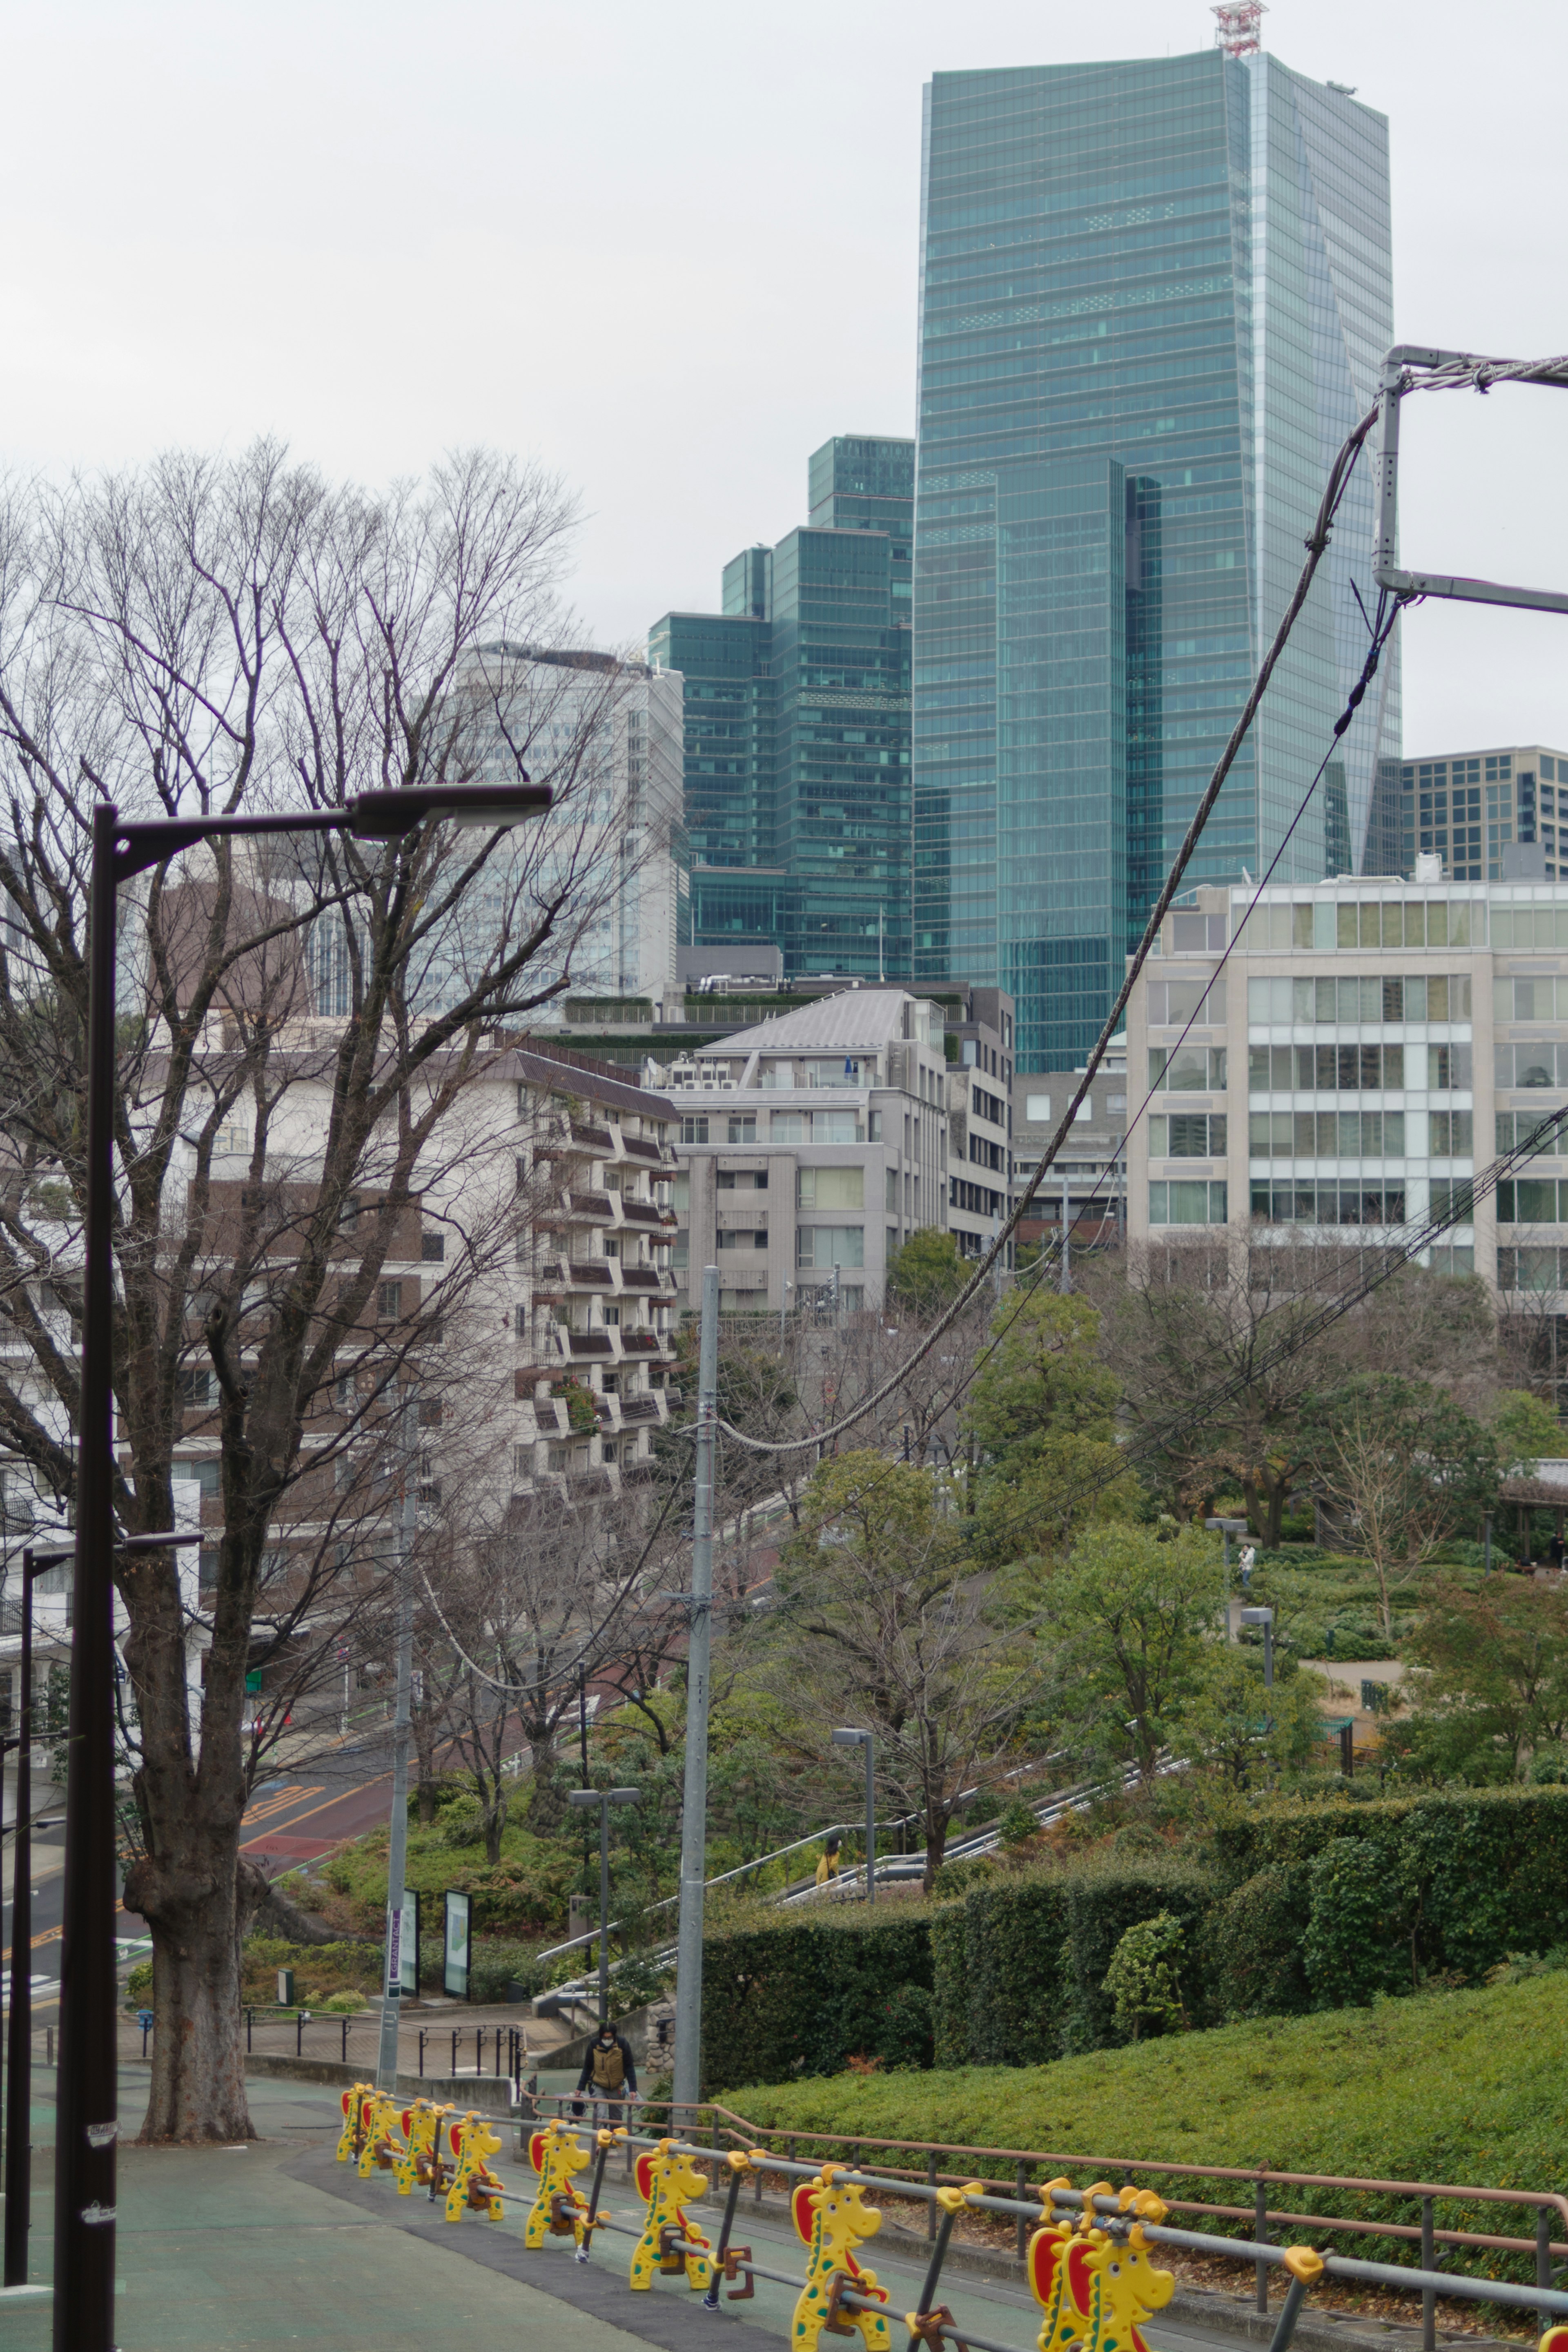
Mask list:
[[[254,2140],[244,2098],[240,1938],[266,1879],[219,1835],[179,1870],[132,1865],[125,1907],[153,1929],[153,2084],[141,2143]]]

